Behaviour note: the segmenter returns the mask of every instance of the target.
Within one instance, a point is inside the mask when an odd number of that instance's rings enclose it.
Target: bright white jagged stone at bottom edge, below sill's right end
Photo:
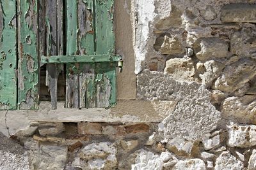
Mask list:
[[[146,150],[138,150],[136,152],[135,164],[132,164],[132,170],[156,169],[162,170],[164,163],[177,160],[172,153],[163,152],[161,155],[156,155]],[[166,164],[167,165],[167,164]]]

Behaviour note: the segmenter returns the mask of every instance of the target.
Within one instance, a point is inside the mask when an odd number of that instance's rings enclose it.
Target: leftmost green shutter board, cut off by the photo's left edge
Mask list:
[[[17,109],[16,1],[0,1],[0,110]]]

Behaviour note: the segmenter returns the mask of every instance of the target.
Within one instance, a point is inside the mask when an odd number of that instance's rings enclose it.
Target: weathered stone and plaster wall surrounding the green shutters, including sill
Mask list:
[[[1,131],[28,151],[20,161],[29,169],[256,169],[256,1],[118,0],[115,14],[125,62],[117,106],[0,112]]]

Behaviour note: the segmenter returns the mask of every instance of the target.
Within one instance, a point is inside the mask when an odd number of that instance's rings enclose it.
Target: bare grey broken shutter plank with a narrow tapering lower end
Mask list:
[[[56,0],[47,0],[46,26],[47,26],[47,56],[58,55],[58,20]],[[45,85],[51,94],[52,110],[57,108],[58,67],[56,64],[47,64]]]

